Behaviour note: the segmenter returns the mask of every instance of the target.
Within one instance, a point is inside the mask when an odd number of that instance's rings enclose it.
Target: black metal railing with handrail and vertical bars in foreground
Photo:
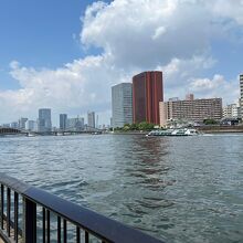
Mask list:
[[[0,173],[4,242],[161,243],[117,221]]]

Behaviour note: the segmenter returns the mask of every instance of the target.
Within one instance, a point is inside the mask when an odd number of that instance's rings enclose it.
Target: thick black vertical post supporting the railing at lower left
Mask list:
[[[36,243],[36,203],[23,198],[23,243]]]

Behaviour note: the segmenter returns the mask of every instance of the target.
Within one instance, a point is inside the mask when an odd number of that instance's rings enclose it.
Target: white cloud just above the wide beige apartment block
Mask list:
[[[157,66],[163,71],[166,99],[184,98],[186,94],[194,93],[197,98],[222,97],[224,104],[235,101],[240,96],[239,77],[230,81],[220,74],[212,78],[199,77],[214,64],[211,56],[193,56],[189,60],[173,59],[165,66]]]

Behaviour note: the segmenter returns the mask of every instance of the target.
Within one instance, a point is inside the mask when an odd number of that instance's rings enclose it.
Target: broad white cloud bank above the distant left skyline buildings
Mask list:
[[[11,76],[21,88],[0,92],[2,117],[14,119],[17,114],[36,117],[38,108],[50,107],[59,113],[85,114],[96,110],[107,116],[110,108],[110,86],[130,82],[131,73],[115,70],[109,55],[74,60],[56,70],[24,67],[10,63]],[[17,117],[15,117],[17,118]]]

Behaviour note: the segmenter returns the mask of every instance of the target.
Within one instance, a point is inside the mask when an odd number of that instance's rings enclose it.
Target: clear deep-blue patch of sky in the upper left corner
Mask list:
[[[55,68],[86,53],[78,40],[80,18],[92,1],[8,0],[0,2],[0,88],[18,88],[9,63]]]

